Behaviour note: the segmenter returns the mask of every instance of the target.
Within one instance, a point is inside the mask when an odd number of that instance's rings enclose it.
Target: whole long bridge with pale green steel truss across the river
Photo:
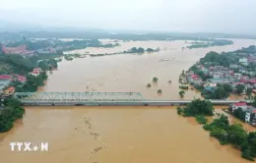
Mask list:
[[[170,106],[186,105],[191,100],[146,100],[139,92],[16,92],[12,98],[33,106]],[[210,100],[214,105],[229,105],[237,100]],[[252,101],[244,101],[251,103]]]

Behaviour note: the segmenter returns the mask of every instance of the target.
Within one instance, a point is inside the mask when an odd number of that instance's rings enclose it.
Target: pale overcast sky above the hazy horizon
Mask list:
[[[256,0],[0,0],[0,24],[256,32]]]

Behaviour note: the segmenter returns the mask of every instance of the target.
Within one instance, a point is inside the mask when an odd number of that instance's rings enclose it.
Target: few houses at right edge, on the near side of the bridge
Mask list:
[[[245,112],[245,122],[256,127],[256,108],[247,105],[246,102],[238,102],[230,105],[231,111],[234,112],[236,109],[241,108]]]

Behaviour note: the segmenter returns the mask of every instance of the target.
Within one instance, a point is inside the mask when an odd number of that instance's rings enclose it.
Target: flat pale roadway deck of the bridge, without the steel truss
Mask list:
[[[238,100],[210,100],[213,105],[225,105],[228,106],[235,102],[240,102]],[[191,100],[145,100],[145,101],[54,101],[54,102],[29,102],[24,101],[25,106],[178,106],[187,105]],[[244,101],[251,103],[252,101]]]

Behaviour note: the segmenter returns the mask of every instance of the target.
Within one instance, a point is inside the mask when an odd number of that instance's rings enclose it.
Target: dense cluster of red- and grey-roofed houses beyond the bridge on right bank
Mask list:
[[[237,64],[231,64],[228,68],[224,66],[208,66],[211,63],[204,65],[197,63],[195,67],[202,72],[208,80],[203,81],[195,72],[186,72],[186,80],[190,83],[204,86],[205,90],[214,92],[218,83],[230,84],[233,92],[237,84],[245,86],[244,92],[247,88],[251,88],[253,93],[256,93],[256,72],[246,69],[249,63],[256,64],[256,56],[242,57]]]

